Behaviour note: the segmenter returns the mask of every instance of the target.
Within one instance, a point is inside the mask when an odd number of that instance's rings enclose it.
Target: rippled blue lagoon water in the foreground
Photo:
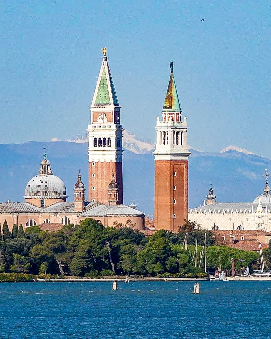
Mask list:
[[[271,338],[271,281],[0,284],[0,338]]]

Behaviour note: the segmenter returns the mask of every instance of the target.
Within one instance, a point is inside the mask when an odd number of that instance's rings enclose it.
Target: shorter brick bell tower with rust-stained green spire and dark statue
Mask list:
[[[154,223],[157,230],[178,230],[188,217],[187,121],[182,121],[180,102],[170,62],[162,121],[156,123]]]

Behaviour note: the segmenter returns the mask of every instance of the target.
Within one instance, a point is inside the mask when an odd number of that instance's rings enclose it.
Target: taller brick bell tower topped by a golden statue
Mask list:
[[[123,203],[122,132],[120,106],[107,63],[106,48],[90,108],[88,125],[89,201],[108,203],[112,173],[118,184],[118,204]]]

